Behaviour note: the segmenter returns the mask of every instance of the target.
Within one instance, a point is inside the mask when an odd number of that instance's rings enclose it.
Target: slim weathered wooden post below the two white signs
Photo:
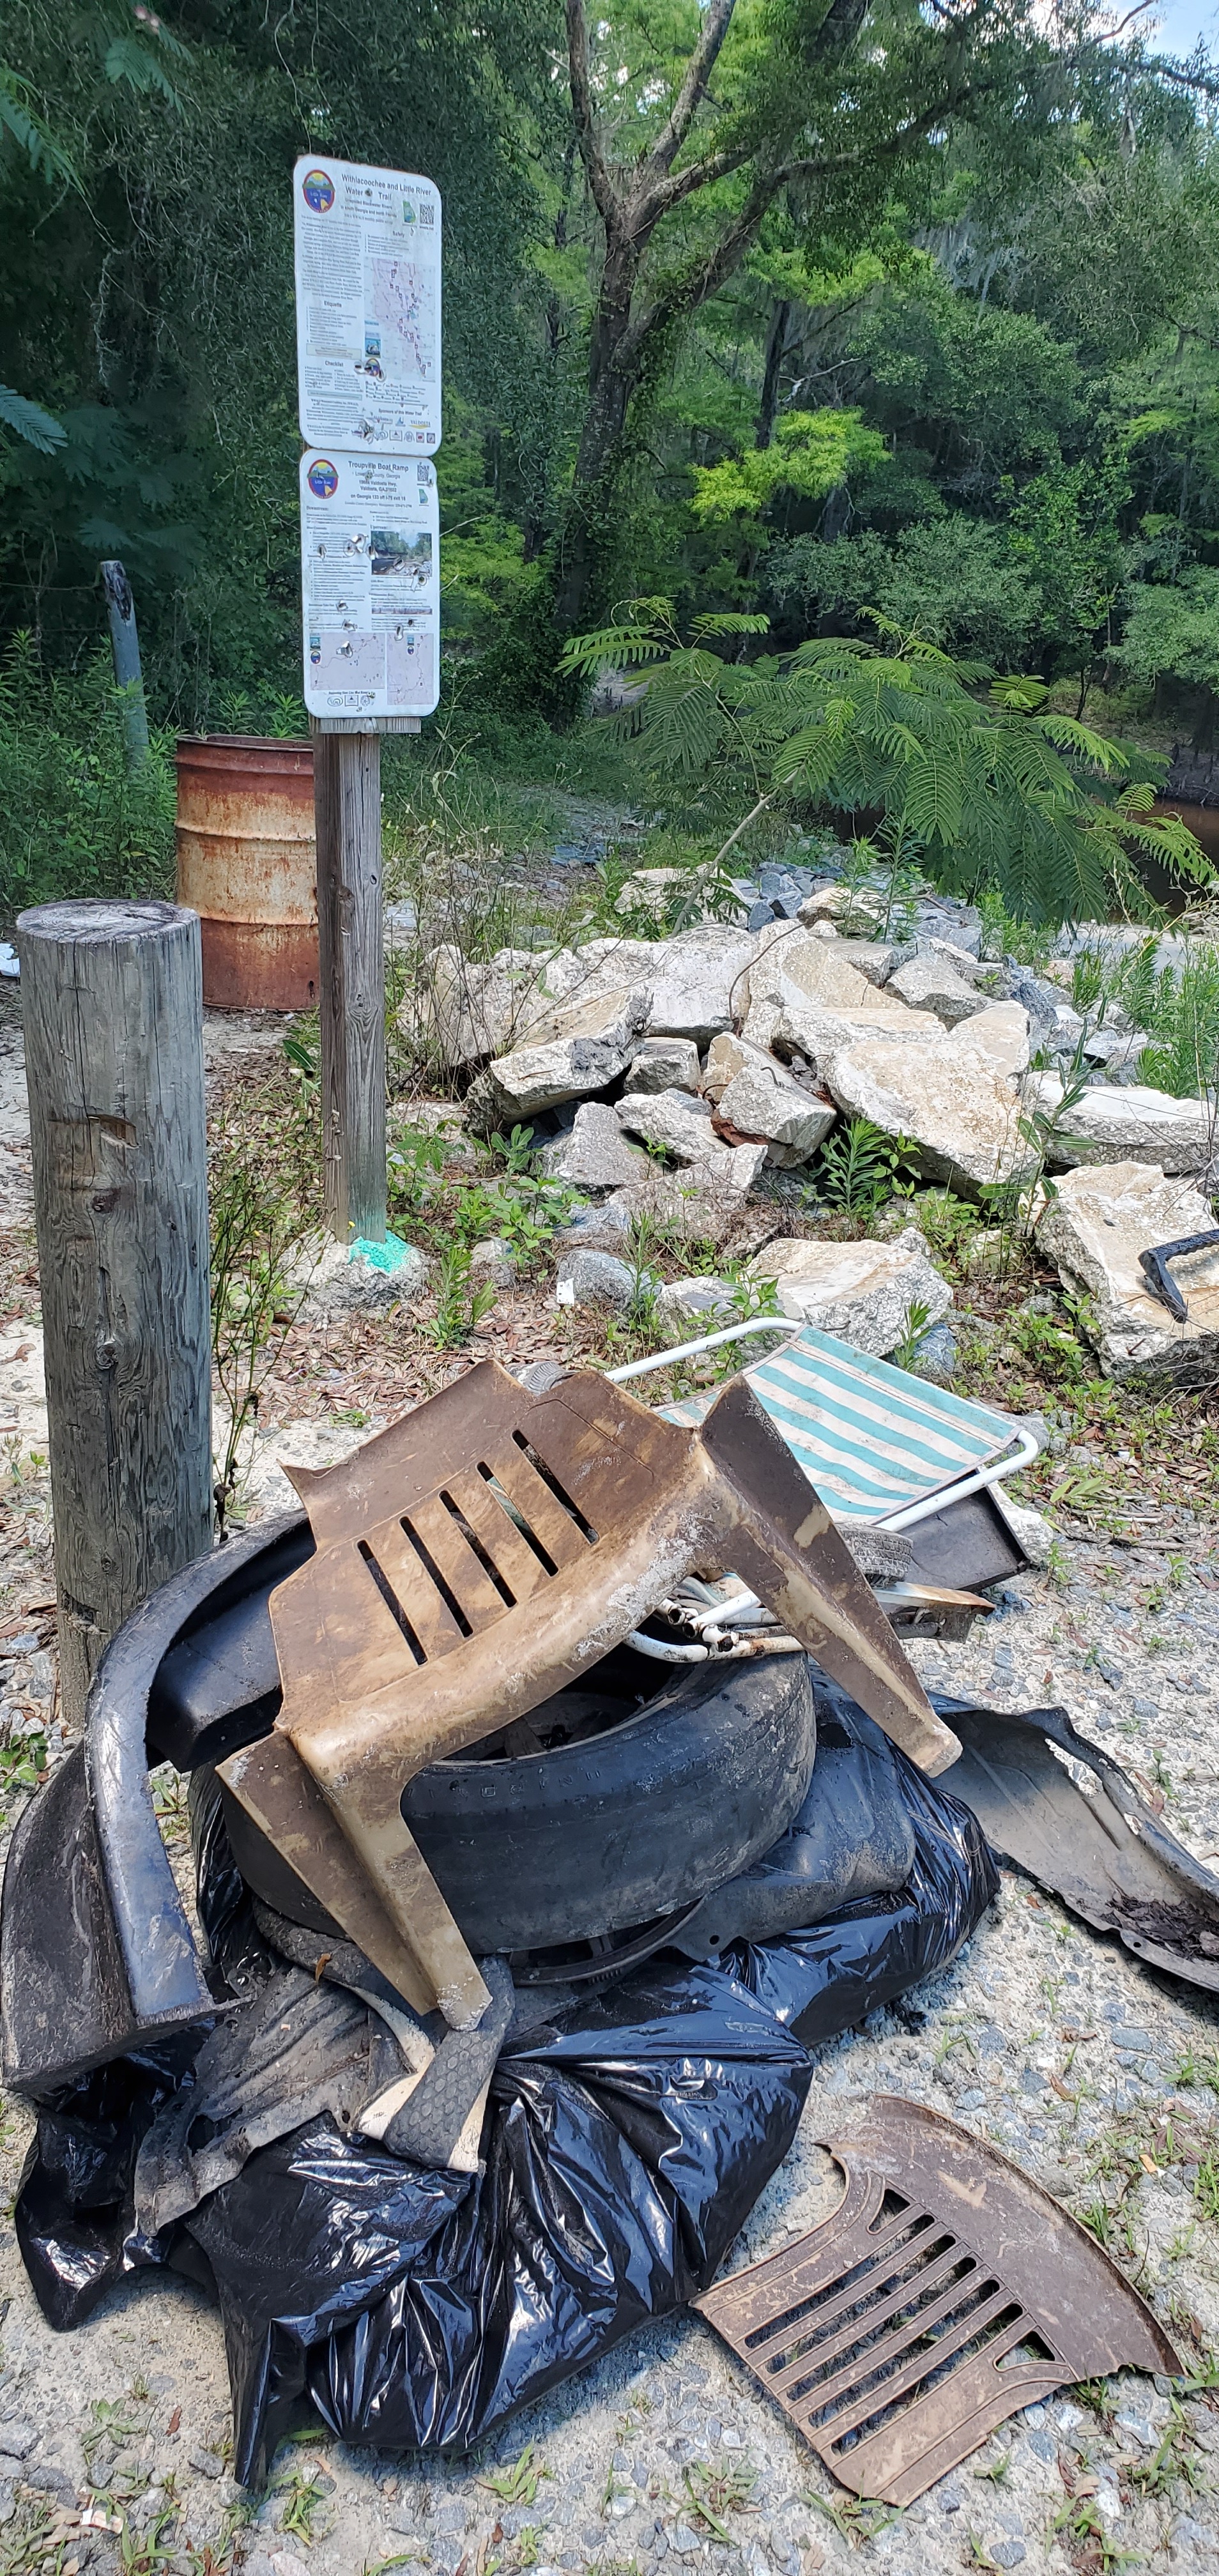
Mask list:
[[[314,726],[325,1213],[384,1244],[381,737]]]

